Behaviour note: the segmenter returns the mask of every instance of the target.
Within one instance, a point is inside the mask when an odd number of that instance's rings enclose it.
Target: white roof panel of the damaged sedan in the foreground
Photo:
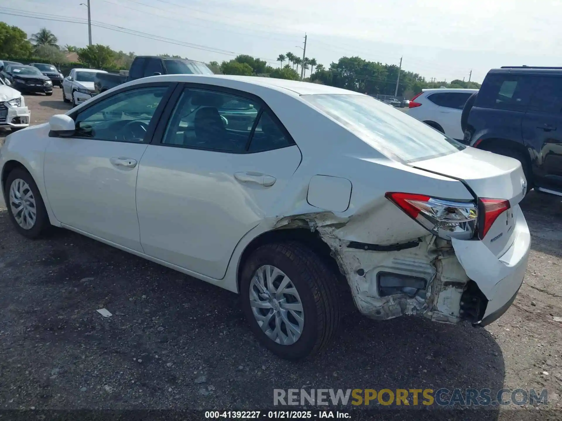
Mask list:
[[[274,90],[292,91],[296,95],[312,94],[347,94],[364,95],[355,91],[334,88],[333,86],[320,85],[316,83],[301,82],[297,80],[274,79],[273,77],[257,76],[234,76],[234,75],[162,75],[143,77],[129,82],[129,85],[147,83],[149,81],[174,81],[185,83],[205,83],[210,85],[224,86],[225,88],[244,89],[244,85],[262,86]]]

